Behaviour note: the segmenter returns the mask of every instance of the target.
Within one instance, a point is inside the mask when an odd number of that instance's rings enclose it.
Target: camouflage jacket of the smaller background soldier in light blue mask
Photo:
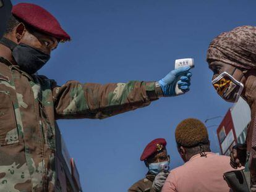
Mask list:
[[[158,192],[152,188],[156,175],[147,173],[146,177],[132,185],[128,192]],[[159,191],[160,192],[160,191]]]

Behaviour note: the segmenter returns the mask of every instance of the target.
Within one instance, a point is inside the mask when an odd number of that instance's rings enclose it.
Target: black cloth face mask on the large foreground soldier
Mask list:
[[[20,66],[20,69],[30,75],[40,70],[50,59],[49,54],[32,48],[27,44],[16,44],[7,38],[2,38],[0,43],[12,50],[12,56]]]

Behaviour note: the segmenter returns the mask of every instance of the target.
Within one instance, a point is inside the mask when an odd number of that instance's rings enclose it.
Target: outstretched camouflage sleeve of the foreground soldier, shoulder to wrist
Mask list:
[[[53,88],[56,119],[103,119],[145,107],[157,98],[154,82],[79,83],[68,81]]]

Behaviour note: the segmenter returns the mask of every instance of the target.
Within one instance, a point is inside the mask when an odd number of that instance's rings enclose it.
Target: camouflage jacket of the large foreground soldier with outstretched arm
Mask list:
[[[155,99],[153,82],[57,86],[0,57],[0,191],[54,191],[56,119],[103,119]]]

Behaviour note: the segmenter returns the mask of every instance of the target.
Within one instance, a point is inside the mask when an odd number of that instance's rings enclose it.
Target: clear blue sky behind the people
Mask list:
[[[12,1],[14,4],[24,1]],[[255,25],[256,1],[54,0],[25,1],[45,7],[72,36],[40,70],[62,85],[67,80],[117,83],[155,81],[175,59],[194,57],[189,93],[161,98],[150,106],[105,120],[60,120],[84,191],[127,191],[147,169],[139,161],[145,145],[166,138],[171,168],[182,164],[174,130],[183,119],[224,115],[224,102],[211,85],[205,61],[208,44],[222,31]],[[211,120],[208,126],[220,123]],[[216,127],[208,129],[218,152]]]

